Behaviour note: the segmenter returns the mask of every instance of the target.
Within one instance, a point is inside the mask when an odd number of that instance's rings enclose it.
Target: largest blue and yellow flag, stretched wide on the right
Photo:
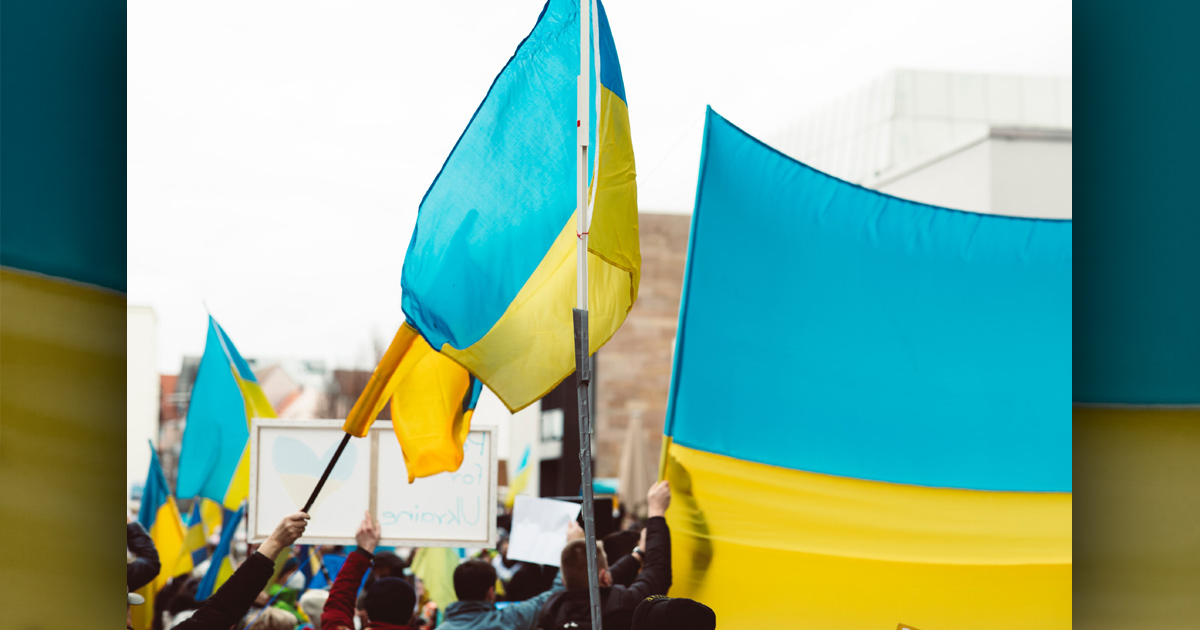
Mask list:
[[[664,466],[721,628],[1072,624],[1072,223],[836,180],[708,112]]]

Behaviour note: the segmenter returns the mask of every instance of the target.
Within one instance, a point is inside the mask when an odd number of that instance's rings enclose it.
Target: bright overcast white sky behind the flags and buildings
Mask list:
[[[542,0],[132,0],[128,300],[204,349],[371,365],[421,196]],[[610,0],[643,211],[689,212],[704,106],[766,134],[898,67],[1070,76],[1069,0]]]

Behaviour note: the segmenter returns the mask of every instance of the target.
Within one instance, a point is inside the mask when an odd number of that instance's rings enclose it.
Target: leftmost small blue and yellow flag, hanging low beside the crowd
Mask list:
[[[154,623],[154,598],[167,581],[192,570],[192,557],[185,553],[184,521],[179,514],[175,498],[167,487],[167,478],[158,464],[158,454],[150,449],[150,470],[146,473],[145,487],[142,491],[142,508],[138,510],[138,522],[150,534],[155,550],[158,551],[158,576],[152,582],[138,589],[145,598],[145,604],[134,606],[133,628],[149,630]]]

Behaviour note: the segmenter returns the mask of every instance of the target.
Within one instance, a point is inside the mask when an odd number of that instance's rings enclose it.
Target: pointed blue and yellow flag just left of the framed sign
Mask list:
[[[250,421],[275,418],[254,372],[209,317],[209,338],[196,373],[179,454],[180,498],[208,498],[227,510],[250,493]]]

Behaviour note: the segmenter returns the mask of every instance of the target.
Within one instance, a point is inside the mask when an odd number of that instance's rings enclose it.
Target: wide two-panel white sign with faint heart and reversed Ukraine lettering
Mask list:
[[[346,433],[342,420],[256,418],[251,425],[250,529],[262,541],[281,518],[301,509]],[[391,422],[350,438],[310,511],[299,544],[354,545],[370,511],[385,546],[496,546],[494,427],[473,430],[454,473],[408,482]]]

